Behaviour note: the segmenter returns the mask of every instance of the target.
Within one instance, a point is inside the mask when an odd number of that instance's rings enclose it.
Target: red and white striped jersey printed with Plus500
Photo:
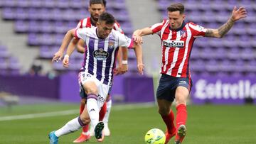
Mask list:
[[[168,74],[172,77],[190,77],[188,62],[193,42],[197,37],[205,35],[206,28],[192,22],[183,22],[181,28],[171,30],[169,20],[156,23],[150,28],[161,38],[161,74]]]

